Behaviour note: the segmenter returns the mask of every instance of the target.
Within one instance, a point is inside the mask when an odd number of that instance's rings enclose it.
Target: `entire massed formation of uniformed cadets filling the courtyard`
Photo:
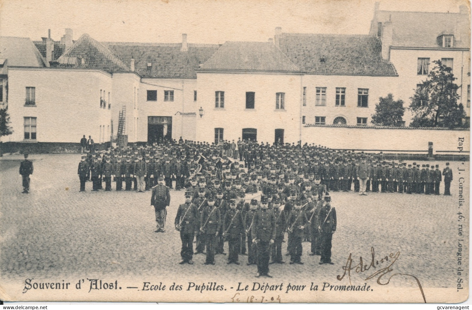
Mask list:
[[[205,253],[205,264],[213,265],[215,254],[227,254],[227,242],[228,264],[238,265],[239,255],[247,255],[247,264],[258,266],[257,276],[270,276],[270,263],[284,263],[284,242],[290,264],[303,264],[304,241],[311,242],[310,255],[320,255],[320,264],[333,264],[337,218],[330,191],[348,192],[354,183],[360,194],[439,194],[444,181],[444,194],[450,195],[448,163],[441,172],[439,165],[407,166],[401,160],[388,162],[382,154],[243,143],[235,158],[221,145],[192,141],[89,152],[79,163],[80,191],[87,180],[93,181],[93,191],[103,181],[110,191],[113,180],[117,191],[123,182],[126,191],[152,190],[156,232],[164,232],[174,181],[176,190],[185,189],[174,222],[182,241],[181,264],[193,264],[194,254]]]

